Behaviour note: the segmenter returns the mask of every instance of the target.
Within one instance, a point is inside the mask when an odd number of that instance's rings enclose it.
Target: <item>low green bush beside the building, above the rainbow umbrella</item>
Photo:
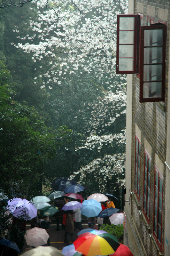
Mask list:
[[[104,230],[104,231],[108,232],[109,234],[116,236],[118,241],[121,244],[123,244],[123,225],[122,224],[118,224],[118,225],[105,224],[100,227],[100,230]]]

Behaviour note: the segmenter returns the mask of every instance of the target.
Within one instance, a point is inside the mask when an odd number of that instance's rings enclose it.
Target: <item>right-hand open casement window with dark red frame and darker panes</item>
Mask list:
[[[165,101],[166,25],[141,27],[140,46],[140,102]]]

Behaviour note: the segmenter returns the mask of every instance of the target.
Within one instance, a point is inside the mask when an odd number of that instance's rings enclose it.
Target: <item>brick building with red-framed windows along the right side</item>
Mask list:
[[[117,35],[117,72],[128,74],[124,244],[170,256],[170,1],[129,0]]]

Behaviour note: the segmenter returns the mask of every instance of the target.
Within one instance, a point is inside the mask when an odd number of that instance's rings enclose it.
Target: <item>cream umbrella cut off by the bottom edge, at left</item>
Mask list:
[[[21,254],[23,256],[64,256],[57,248],[53,246],[38,246]]]

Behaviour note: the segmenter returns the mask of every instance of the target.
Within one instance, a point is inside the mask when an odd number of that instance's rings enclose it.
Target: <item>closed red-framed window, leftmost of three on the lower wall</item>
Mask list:
[[[141,140],[135,135],[135,194],[139,201],[141,175]]]

